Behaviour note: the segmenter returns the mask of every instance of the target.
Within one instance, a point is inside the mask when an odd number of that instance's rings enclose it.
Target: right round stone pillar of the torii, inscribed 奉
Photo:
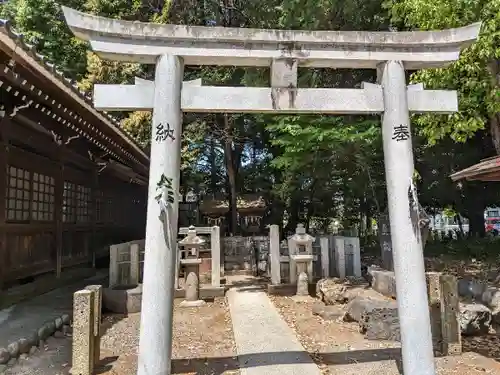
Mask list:
[[[401,61],[381,67],[384,99],[382,139],[393,246],[403,372],[435,375],[429,301],[420,229],[411,221],[413,150],[405,68]]]

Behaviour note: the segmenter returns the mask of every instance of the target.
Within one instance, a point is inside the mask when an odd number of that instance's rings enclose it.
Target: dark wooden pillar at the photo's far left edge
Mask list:
[[[5,114],[4,114],[5,116]],[[0,291],[3,290],[6,281],[5,275],[8,267],[8,254],[7,254],[7,228],[6,228],[6,205],[5,200],[7,196],[7,168],[8,165],[8,126],[10,121],[8,118],[3,117],[0,121]]]

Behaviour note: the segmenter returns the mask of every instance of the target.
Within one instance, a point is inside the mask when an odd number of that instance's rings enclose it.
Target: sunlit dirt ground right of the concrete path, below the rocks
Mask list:
[[[297,303],[289,297],[271,297],[281,316],[295,330],[304,348],[312,354],[323,374],[399,375],[400,345],[369,341],[356,323],[324,321],[312,314],[315,300]],[[476,350],[474,340],[465,339],[464,350]],[[474,352],[436,359],[439,375],[500,375],[500,364]]]

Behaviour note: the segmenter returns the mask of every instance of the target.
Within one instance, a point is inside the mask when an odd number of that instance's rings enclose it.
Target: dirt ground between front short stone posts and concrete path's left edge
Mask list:
[[[239,374],[229,310],[224,298],[203,307],[174,310],[172,374]],[[98,373],[131,375],[137,368],[140,314],[115,317],[101,341]],[[108,323],[109,324],[109,323]]]

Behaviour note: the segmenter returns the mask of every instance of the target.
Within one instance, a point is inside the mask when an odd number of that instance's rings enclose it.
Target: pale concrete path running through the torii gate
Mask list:
[[[241,375],[320,375],[265,292],[233,287],[227,296]]]

